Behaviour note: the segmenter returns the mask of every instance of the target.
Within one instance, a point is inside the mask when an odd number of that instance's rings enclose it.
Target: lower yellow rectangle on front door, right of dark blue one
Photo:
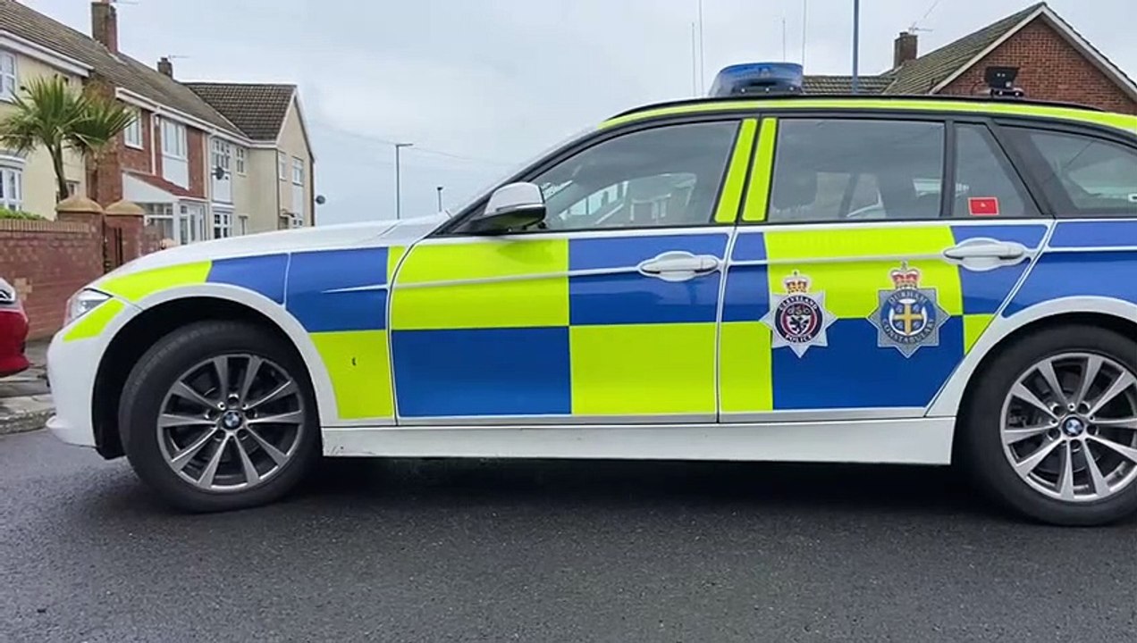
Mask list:
[[[714,324],[573,326],[574,415],[715,412]]]

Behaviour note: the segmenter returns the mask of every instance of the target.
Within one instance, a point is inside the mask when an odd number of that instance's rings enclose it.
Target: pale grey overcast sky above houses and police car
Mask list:
[[[90,33],[88,0],[24,0]],[[1137,76],[1134,0],[1052,0]],[[806,73],[848,74],[852,0],[807,0]],[[920,52],[1027,0],[864,0],[861,69],[891,65],[915,22]],[[534,153],[623,109],[692,94],[697,0],[122,0],[123,51],[173,55],[183,81],[300,85],[316,153],[322,223],[395,216],[390,141],[402,158],[402,214],[459,204]],[[703,0],[704,77],[725,65],[802,56],[802,0]],[[932,8],[933,7],[933,8]],[[931,12],[924,17],[926,12]],[[1128,10],[1127,10],[1128,9]]]

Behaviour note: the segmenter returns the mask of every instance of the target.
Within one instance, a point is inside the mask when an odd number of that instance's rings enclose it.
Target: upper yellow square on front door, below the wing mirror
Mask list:
[[[417,245],[402,260],[391,328],[568,325],[568,241]]]

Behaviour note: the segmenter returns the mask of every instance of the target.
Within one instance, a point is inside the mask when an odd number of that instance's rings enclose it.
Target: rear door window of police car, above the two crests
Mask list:
[[[944,133],[943,123],[781,120],[766,220],[937,218]]]

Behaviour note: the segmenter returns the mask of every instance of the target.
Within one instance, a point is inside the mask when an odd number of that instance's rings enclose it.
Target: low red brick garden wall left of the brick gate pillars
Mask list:
[[[63,326],[64,306],[102,275],[102,240],[92,223],[0,219],[0,275],[22,291],[30,339]]]

